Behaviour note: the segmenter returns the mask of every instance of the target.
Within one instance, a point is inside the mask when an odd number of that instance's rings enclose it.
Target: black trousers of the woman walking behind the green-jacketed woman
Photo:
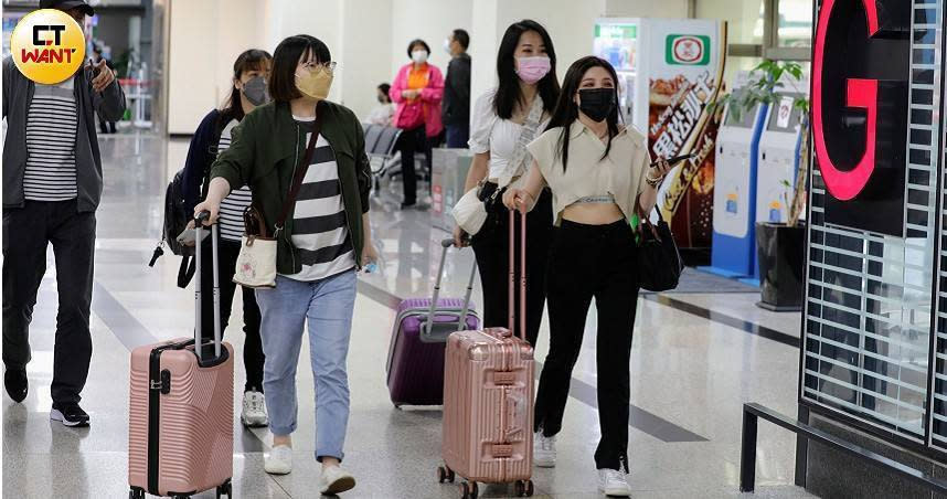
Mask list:
[[[263,354],[263,342],[259,339],[259,306],[256,305],[256,295],[253,289],[247,289],[233,282],[236,274],[236,259],[240,255],[241,244],[235,241],[220,240],[217,255],[220,256],[219,278],[221,283],[221,335],[226,332],[233,310],[234,294],[237,289],[243,291],[243,367],[246,372],[246,384],[244,391],[251,390],[263,392],[263,363],[266,357]],[[211,237],[205,237],[201,248],[201,338],[213,340],[214,338],[214,267],[212,262]],[[203,265],[208,263],[208,265]],[[213,353],[211,353],[213,355]]]

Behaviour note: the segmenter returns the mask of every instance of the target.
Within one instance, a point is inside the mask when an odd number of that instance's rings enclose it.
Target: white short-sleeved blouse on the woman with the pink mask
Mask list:
[[[515,124],[509,119],[501,119],[493,109],[493,96],[497,89],[491,88],[483,93],[474,105],[470,123],[470,140],[467,145],[474,153],[490,152],[490,164],[487,178],[499,179],[513,160],[517,142],[523,125]],[[540,123],[535,137],[542,135],[550,120]]]

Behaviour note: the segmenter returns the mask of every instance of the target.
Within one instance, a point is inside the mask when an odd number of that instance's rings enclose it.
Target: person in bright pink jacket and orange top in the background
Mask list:
[[[444,130],[440,121],[444,76],[440,70],[427,62],[430,47],[424,40],[413,40],[407,45],[407,55],[412,62],[397,72],[389,93],[397,104],[393,124],[404,130],[397,144],[404,182],[402,209],[413,206],[417,202],[415,151],[424,151],[430,167],[430,148]]]

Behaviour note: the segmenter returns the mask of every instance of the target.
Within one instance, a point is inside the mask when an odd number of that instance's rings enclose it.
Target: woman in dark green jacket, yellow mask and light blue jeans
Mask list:
[[[269,78],[274,102],[256,108],[234,128],[230,149],[211,169],[206,201],[194,209],[195,214],[209,211],[213,223],[221,200],[232,189],[249,184],[254,204],[278,240],[276,287],[256,290],[266,353],[263,383],[274,435],[265,468],[276,475],[292,469],[296,367],[308,320],[322,493],[339,493],[355,485],[340,467],[349,418],[345,359],[355,272],[377,259],[371,244],[371,170],[362,127],[351,110],[326,100],[334,66],[326,44],[309,35],[290,36],[276,47]],[[273,224],[316,120],[321,131],[302,187],[285,226],[276,231]]]

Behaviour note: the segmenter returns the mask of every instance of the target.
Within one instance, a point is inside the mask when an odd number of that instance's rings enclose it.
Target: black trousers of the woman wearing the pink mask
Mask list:
[[[510,322],[510,212],[497,201],[488,209],[487,221],[470,240],[477,255],[483,289],[483,326],[508,327]],[[520,215],[514,219],[517,285],[514,286],[514,333],[520,335]],[[552,241],[552,194],[545,190],[526,215],[526,340],[536,344],[546,300],[546,261]]]

